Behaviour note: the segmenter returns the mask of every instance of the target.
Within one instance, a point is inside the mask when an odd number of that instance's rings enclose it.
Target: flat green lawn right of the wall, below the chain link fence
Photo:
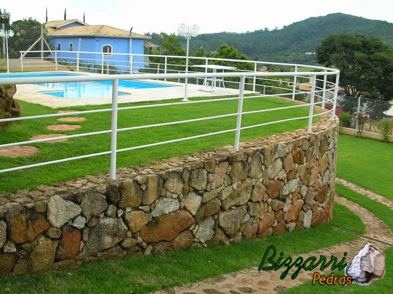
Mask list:
[[[340,135],[337,177],[393,200],[393,144]]]

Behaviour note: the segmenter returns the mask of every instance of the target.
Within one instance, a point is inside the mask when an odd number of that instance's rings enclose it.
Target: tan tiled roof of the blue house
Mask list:
[[[130,37],[130,32],[108,25],[78,25],[56,29],[56,27],[72,23],[74,20],[49,21],[45,24],[48,35],[52,36],[119,36]],[[132,38],[152,39],[150,36],[132,32]]]

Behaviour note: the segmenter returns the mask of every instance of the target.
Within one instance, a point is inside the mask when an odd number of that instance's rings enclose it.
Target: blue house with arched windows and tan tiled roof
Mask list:
[[[156,46],[147,41],[150,36],[108,25],[88,25],[78,19],[48,21],[45,29],[55,50],[69,51],[57,52],[58,60],[76,62],[77,53],[74,51],[89,52],[79,54],[80,63],[111,64],[119,70],[130,70],[131,56],[114,53],[147,54]],[[143,68],[146,62],[147,57],[134,56],[133,71]]]

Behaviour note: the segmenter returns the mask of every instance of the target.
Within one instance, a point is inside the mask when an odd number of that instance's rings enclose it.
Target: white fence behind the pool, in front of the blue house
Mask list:
[[[43,65],[41,59],[37,57],[29,57],[28,54],[38,54],[47,56],[42,60],[50,61]],[[301,65],[292,63],[277,63],[253,60],[234,60],[223,58],[210,57],[194,57],[189,56],[189,66],[186,70],[186,56],[172,56],[172,55],[149,55],[149,54],[128,54],[128,53],[111,53],[110,55],[101,52],[87,52],[87,51],[21,51],[20,52],[20,67],[21,71],[34,71],[34,68],[46,68],[48,71],[57,71],[59,65],[65,65],[77,72],[88,71],[101,74],[117,74],[117,73],[186,73],[186,72],[208,72],[208,69],[193,67],[192,65],[210,65],[220,64],[237,67],[236,69],[226,70],[226,72],[299,72],[299,75],[285,76],[281,75],[281,80],[273,77],[267,78],[263,76],[248,76],[245,81],[245,90],[258,91],[264,94],[277,93],[283,86],[285,89],[293,90],[293,93],[303,93],[299,87],[311,88],[312,75],[300,75],[300,69],[303,71],[320,72],[319,75],[323,80],[323,86],[319,88],[334,87],[334,81],[329,82],[327,75],[324,72],[331,71],[329,68]],[[155,61],[155,62],[153,62]],[[167,80],[168,78],[163,78]],[[176,82],[185,82],[184,77],[177,78]],[[190,79],[188,81],[192,84],[202,84],[203,80],[200,78]],[[224,80],[229,88],[239,89],[240,79],[234,81],[233,79]],[[326,93],[323,92],[323,95]],[[325,96],[323,97],[325,98]],[[292,99],[295,99],[293,94]]]

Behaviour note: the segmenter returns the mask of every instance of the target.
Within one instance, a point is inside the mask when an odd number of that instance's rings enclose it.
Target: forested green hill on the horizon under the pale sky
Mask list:
[[[221,44],[233,45],[249,58],[265,61],[301,62],[313,56],[305,55],[314,52],[315,48],[329,34],[362,33],[367,37],[373,35],[393,46],[393,24],[370,20],[363,17],[334,13],[326,16],[311,17],[292,23],[282,29],[261,29],[246,33],[219,32],[200,34],[192,38],[190,52],[199,47],[215,51]],[[152,34],[152,42],[157,34]],[[182,38],[185,47],[185,40]],[[303,60],[299,60],[303,59]],[[274,60],[268,60],[274,59]],[[311,61],[311,60],[309,60]],[[309,63],[309,62],[308,62]]]

